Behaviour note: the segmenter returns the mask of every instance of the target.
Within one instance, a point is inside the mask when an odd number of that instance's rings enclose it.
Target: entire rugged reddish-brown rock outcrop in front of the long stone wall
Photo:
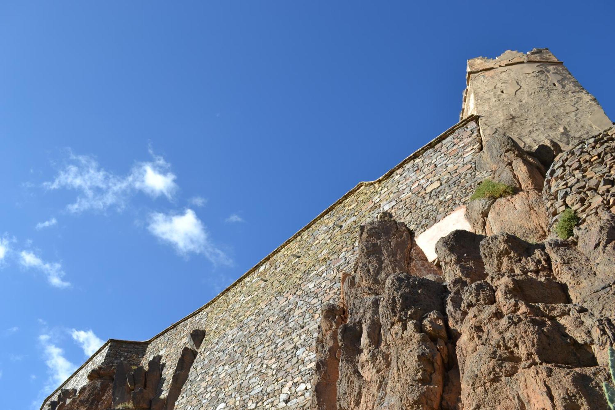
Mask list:
[[[312,409],[606,408],[608,210],[567,241],[453,231],[436,246],[442,276],[408,273],[411,233],[389,215],[359,246],[344,307],[323,312]]]

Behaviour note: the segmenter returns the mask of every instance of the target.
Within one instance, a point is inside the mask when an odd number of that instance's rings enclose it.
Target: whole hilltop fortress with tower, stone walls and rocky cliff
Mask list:
[[[607,409],[614,135],[548,49],[473,58],[458,124],[41,409]]]

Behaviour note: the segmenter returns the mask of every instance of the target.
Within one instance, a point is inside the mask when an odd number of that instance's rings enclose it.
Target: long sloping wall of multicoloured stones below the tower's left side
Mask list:
[[[189,333],[203,329],[175,409],[307,406],[320,311],[338,302],[341,277],[354,269],[360,225],[389,211],[422,233],[486,177],[475,170],[480,150],[472,116],[383,177],[357,185],[207,305],[154,336],[141,365],[162,356],[162,395]]]

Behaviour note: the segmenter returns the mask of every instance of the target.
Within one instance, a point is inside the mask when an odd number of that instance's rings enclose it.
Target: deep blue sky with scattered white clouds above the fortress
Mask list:
[[[549,47],[613,118],[614,12],[2,2],[2,408],[188,315],[456,123],[467,58]]]

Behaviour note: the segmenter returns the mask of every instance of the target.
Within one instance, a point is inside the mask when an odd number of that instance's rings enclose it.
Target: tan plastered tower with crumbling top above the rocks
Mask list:
[[[569,148],[610,127],[595,98],[547,49],[468,61],[461,118],[480,115],[483,138],[506,135],[533,150],[544,139]]]

